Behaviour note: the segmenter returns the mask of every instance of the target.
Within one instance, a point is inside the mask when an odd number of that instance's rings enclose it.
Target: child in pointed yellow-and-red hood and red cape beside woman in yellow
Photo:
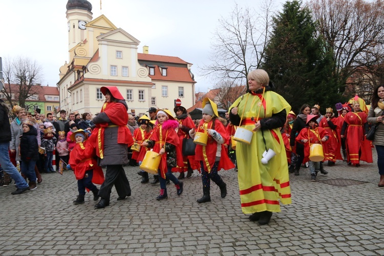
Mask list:
[[[210,180],[220,187],[221,197],[225,198],[227,185],[218,174],[218,170],[234,168],[224,147],[224,143],[229,140],[229,135],[218,116],[216,103],[205,98],[203,100],[203,119],[196,131],[195,129],[189,131],[191,138],[195,138],[196,132],[208,134],[206,146],[198,144],[195,151],[195,158],[201,164],[201,180],[203,182],[203,197],[197,200],[198,203],[210,202]]]

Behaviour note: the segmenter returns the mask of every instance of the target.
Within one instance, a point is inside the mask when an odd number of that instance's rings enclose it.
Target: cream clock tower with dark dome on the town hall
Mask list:
[[[92,5],[87,0],[68,0],[68,50],[87,37],[87,24],[92,20]]]

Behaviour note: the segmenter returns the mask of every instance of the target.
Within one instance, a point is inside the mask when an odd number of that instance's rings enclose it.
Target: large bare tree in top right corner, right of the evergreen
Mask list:
[[[370,61],[377,59],[373,49],[384,43],[383,2],[311,0],[309,7],[327,50],[333,52],[334,72],[343,90],[353,73],[366,69],[373,63]]]

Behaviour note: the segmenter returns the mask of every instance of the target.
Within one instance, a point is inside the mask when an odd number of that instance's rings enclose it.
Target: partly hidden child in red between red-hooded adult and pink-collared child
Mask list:
[[[136,129],[133,133],[133,139],[136,143],[141,145],[145,140],[149,139],[151,136],[152,127],[150,124],[151,119],[146,115],[143,115],[139,118],[139,129]],[[133,151],[132,159],[137,160],[141,165],[141,162],[144,159],[145,153],[148,151],[148,148],[145,146],[140,147],[140,152]],[[144,170],[139,170],[137,173],[142,177],[141,183],[148,183],[150,179],[148,178],[148,173]]]

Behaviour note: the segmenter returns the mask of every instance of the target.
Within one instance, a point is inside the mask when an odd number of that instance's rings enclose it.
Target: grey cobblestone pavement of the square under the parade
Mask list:
[[[317,182],[306,168],[291,174],[292,204],[265,226],[242,213],[234,170],[220,172],[226,198],[213,184],[212,201],[198,204],[196,171],[184,179],[180,197],[168,185],[168,199],[156,201],[160,186],[141,184],[138,167],[125,167],[132,196],[116,201],[113,188],[111,206],[97,210],[92,193],[86,203],[72,204],[77,183],[71,171],[43,174],[38,188],[22,195],[10,194],[13,185],[0,188],[0,255],[384,255],[377,165],[337,161],[325,167],[329,174],[319,174]],[[362,184],[322,182],[338,178]]]

